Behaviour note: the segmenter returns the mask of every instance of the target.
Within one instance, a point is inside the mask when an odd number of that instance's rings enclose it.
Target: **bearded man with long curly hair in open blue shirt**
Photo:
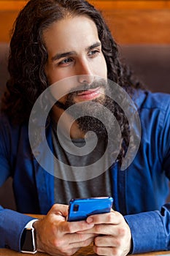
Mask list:
[[[1,105],[1,184],[7,177],[13,177],[18,212],[23,214],[1,208],[0,246],[18,251],[38,250],[50,255],[73,255],[91,242],[97,255],[169,249],[169,205],[163,204],[166,202],[170,169],[170,98],[166,94],[144,91],[139,83],[132,80],[131,73],[117,57],[117,45],[100,13],[84,0],[28,1],[16,20],[12,34],[9,74],[8,91]],[[53,90],[50,86],[60,81],[63,81],[61,85],[68,86],[72,78],[74,91],[65,86]],[[123,103],[124,96],[116,95],[115,101],[111,99],[112,86],[107,83],[108,79],[134,99],[142,126],[139,150],[125,170],[121,170],[121,165],[131,144],[131,121],[129,123],[125,118],[126,110],[117,103],[119,97]],[[48,88],[53,97],[42,94]],[[65,88],[66,91],[62,92]],[[121,89],[120,92],[123,94]],[[40,111],[33,108],[37,99]],[[51,101],[53,108],[46,124],[40,124],[38,131],[28,131],[28,123],[32,122],[33,127],[34,122],[41,123],[43,112]],[[89,106],[93,104],[91,110]],[[76,111],[71,110],[70,113],[69,109],[74,106]],[[65,164],[83,167],[92,165],[92,160],[98,161],[98,156],[100,158],[104,154],[107,133],[115,131],[116,122],[113,124],[110,118],[107,118],[106,132],[101,122],[90,118],[86,112],[79,116],[86,108],[97,115],[98,106],[99,110],[108,108],[115,114],[120,126],[120,153],[112,165],[98,176],[82,181],[64,178]],[[35,118],[32,118],[35,113]],[[69,134],[72,142],[81,149],[85,146],[89,130],[98,135],[93,159],[91,154],[90,157],[81,158],[78,154],[78,157],[73,157],[72,152],[67,154],[63,150],[57,129],[64,113],[66,118],[62,119],[59,127],[61,132],[64,130],[62,139]],[[46,154],[42,129],[45,129],[48,146],[62,162],[57,168],[55,157]],[[138,129],[136,127],[136,132]],[[30,136],[34,135],[33,143],[28,132]],[[111,141],[116,143],[112,138]],[[135,141],[132,146],[135,146]],[[112,150],[115,150],[114,146],[109,148],[109,156]],[[62,178],[58,178],[58,173],[63,175]],[[67,205],[72,197],[106,195],[114,197],[115,211],[93,215],[86,221],[66,221]],[[24,213],[47,215],[44,219],[35,220]],[[32,249],[28,248],[32,240],[26,236],[27,224],[32,224],[32,230],[36,230],[36,246],[33,244]],[[34,239],[33,233],[31,239]]]

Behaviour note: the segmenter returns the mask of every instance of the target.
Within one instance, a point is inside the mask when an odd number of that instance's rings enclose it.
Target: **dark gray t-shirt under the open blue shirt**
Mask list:
[[[98,140],[96,148],[93,149],[93,153],[83,156],[77,156],[65,151],[58,140],[56,129],[53,128],[52,133],[54,155],[59,160],[59,164],[55,165],[55,203],[69,204],[69,200],[72,198],[80,197],[103,197],[112,196],[112,178],[110,170],[104,171],[96,178],[91,178],[87,181],[66,181],[64,178],[65,167],[63,163],[70,166],[70,172],[72,172],[72,166],[87,166],[96,162],[104,154],[105,140]],[[84,139],[68,141],[68,143],[74,143],[75,146],[81,148],[85,146]],[[55,161],[54,161],[55,162]],[[93,170],[91,170],[93,172]],[[57,178],[61,177],[62,178]]]

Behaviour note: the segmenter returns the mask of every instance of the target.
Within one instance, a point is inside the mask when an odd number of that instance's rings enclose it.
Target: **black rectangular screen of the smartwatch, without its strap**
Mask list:
[[[21,251],[35,252],[35,232],[33,229],[24,229],[21,238]]]

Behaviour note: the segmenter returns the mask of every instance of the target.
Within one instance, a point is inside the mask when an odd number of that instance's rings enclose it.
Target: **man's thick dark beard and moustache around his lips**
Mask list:
[[[74,102],[74,97],[76,97],[81,92],[87,91],[89,89],[96,89],[98,87],[104,89],[104,94],[102,94],[101,97],[92,99],[90,101],[79,102],[78,104]],[[108,113],[104,111],[104,107],[107,108],[112,114],[115,112],[115,102],[106,94],[110,94],[109,84],[106,80],[99,79],[90,85],[87,83],[82,84],[82,86],[79,87],[79,91],[74,91],[74,89],[72,89],[72,92],[67,94],[66,102],[64,104],[57,101],[55,102],[55,105],[57,105],[58,108],[65,110],[67,113],[69,113],[69,115],[75,118],[75,121],[77,122],[78,127],[82,132],[87,133],[92,131],[96,133],[98,138],[106,139],[108,135],[108,129],[113,129],[114,124],[112,121],[110,121],[111,118],[108,117]],[[77,116],[79,117],[77,118]],[[98,118],[96,118],[96,116]]]

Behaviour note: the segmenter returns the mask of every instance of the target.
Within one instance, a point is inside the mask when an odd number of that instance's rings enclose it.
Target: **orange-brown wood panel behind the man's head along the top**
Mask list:
[[[27,1],[0,0],[0,42],[9,42],[12,24]],[[170,1],[90,0],[102,10],[119,44],[169,44]]]

